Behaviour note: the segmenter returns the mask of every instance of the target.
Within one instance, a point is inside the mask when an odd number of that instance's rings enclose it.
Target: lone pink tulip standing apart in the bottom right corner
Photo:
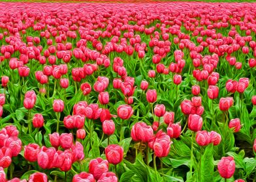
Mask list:
[[[231,178],[234,174],[234,170],[236,170],[236,165],[233,157],[222,157],[219,164],[217,164],[217,170],[221,177],[227,179]]]

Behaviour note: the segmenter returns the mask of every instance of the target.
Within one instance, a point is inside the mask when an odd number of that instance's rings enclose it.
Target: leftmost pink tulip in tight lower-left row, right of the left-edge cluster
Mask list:
[[[40,147],[37,144],[28,144],[24,147],[24,157],[29,162],[37,161],[37,154],[40,151]]]

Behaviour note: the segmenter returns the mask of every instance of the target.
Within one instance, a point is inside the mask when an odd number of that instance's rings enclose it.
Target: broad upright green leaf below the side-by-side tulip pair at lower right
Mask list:
[[[214,181],[214,148],[210,144],[206,147],[201,157],[200,181]]]

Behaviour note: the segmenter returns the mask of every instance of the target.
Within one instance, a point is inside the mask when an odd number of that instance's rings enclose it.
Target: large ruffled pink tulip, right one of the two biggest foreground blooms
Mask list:
[[[152,141],[148,143],[157,157],[167,157],[170,151],[170,144],[172,144],[172,142],[170,142],[170,136],[163,133],[161,130],[159,130],[157,135],[152,138]]]

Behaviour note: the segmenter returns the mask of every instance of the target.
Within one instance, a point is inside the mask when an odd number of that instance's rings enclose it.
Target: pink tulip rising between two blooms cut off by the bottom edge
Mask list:
[[[108,172],[108,161],[98,157],[89,162],[89,173],[93,174],[95,179],[98,180],[104,172]]]

